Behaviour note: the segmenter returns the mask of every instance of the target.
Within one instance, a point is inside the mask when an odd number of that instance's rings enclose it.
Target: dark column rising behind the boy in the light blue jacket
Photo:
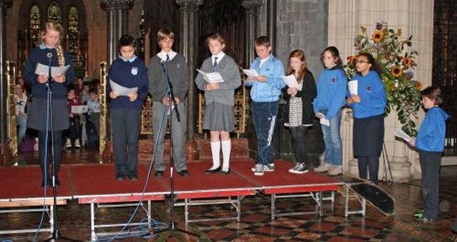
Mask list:
[[[263,6],[263,0],[243,0],[241,5],[246,9],[246,41],[244,42],[246,56],[243,57],[243,63],[245,65],[243,68],[248,68],[255,57],[253,42],[259,33],[259,16],[260,8]]]

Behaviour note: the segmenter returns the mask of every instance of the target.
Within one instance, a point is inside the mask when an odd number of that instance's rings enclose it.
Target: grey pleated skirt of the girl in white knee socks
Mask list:
[[[209,103],[205,106],[204,130],[232,132],[234,130],[233,112],[234,107],[231,105],[219,102]]]

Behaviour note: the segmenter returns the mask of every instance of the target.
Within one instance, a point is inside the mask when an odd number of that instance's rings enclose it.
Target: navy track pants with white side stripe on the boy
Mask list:
[[[278,115],[279,102],[252,102],[251,112],[254,129],[257,136],[257,164],[272,164],[273,140]]]

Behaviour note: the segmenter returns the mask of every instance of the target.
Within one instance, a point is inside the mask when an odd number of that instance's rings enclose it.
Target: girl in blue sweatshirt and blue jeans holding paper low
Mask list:
[[[317,81],[317,97],[313,107],[316,117],[328,123],[321,125],[325,162],[314,169],[336,176],[343,173],[343,147],[341,142],[341,108],[346,104],[348,80],[341,66],[340,52],[335,46],[327,47],[321,54],[324,70]]]

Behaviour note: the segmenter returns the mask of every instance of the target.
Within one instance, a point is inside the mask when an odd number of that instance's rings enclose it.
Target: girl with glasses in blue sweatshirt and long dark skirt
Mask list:
[[[381,80],[380,69],[369,53],[361,53],[356,61],[357,94],[348,97],[353,109],[353,152],[358,160],[358,177],[378,183],[379,156],[384,142],[384,112],[386,89]]]

